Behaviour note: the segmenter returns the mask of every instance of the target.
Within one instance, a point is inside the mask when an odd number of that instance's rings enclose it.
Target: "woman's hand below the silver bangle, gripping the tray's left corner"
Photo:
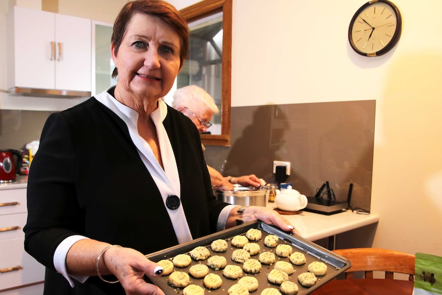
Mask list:
[[[148,260],[142,253],[132,248],[112,247],[104,253],[102,259],[127,295],[164,295],[160,288],[144,280],[145,275],[149,278],[160,277],[163,267]]]

